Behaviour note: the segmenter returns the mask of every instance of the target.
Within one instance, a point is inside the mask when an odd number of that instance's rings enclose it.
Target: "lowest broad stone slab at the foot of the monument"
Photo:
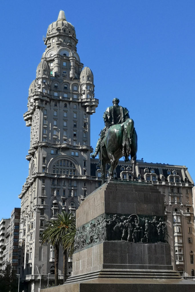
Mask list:
[[[163,278],[106,277],[66,283],[41,292],[194,292],[194,281]]]

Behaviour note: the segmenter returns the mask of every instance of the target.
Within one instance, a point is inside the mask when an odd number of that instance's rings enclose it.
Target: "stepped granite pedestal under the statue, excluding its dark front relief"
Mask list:
[[[168,243],[107,240],[114,237],[103,234],[101,225],[122,216],[139,218],[140,226],[146,218],[162,220],[163,194],[147,183],[110,181],[86,197],[76,211],[77,232],[86,236],[78,233],[72,275],[66,284],[42,291],[195,291],[193,281],[173,271]],[[88,238],[93,228],[95,240]]]

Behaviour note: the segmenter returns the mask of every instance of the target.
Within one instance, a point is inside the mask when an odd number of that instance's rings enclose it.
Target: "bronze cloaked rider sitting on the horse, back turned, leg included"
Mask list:
[[[92,153],[91,157],[95,158],[100,150],[101,141],[105,137],[106,132],[108,129],[116,124],[122,124],[127,119],[129,119],[129,111],[126,107],[122,107],[119,104],[119,99],[114,98],[111,107],[107,107],[106,111],[103,114],[103,120],[105,123],[105,127],[101,131],[101,137],[98,139],[95,151]],[[125,157],[125,161],[129,161],[128,156]]]

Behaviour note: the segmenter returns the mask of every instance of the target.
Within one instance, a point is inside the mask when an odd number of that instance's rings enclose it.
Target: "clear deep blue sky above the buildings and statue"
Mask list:
[[[28,88],[60,10],[76,30],[81,62],[94,73],[95,147],[103,112],[118,97],[134,119],[137,158],[186,165],[195,180],[195,1],[1,1],[0,218],[20,206],[28,176]]]

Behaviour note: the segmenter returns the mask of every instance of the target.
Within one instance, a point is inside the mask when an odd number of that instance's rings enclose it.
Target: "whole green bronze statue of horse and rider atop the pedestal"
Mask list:
[[[129,156],[131,157],[132,180],[135,180],[137,133],[134,121],[130,119],[128,109],[118,105],[118,98],[114,98],[112,102],[113,106],[108,107],[103,114],[105,127],[101,130],[95,151],[91,155],[95,158],[99,154],[102,184],[105,182],[106,164],[110,164],[109,175],[113,178],[114,170],[122,156],[125,161],[129,161]]]

